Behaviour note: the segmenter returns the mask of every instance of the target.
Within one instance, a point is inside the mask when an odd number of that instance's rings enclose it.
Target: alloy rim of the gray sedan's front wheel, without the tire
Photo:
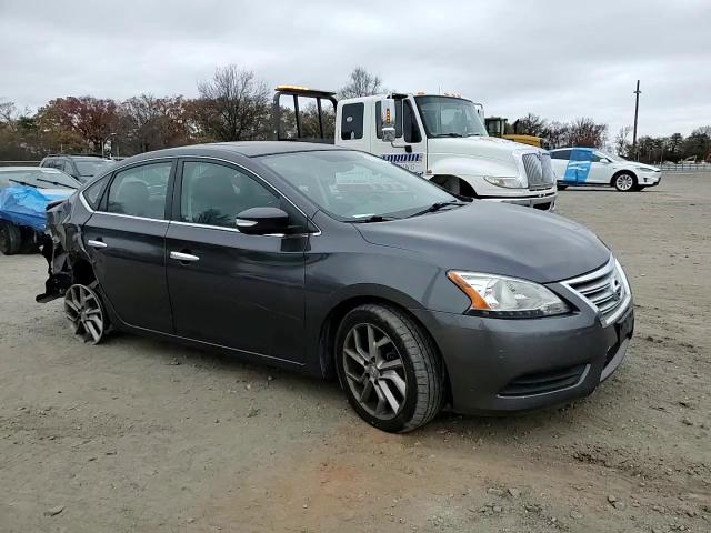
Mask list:
[[[346,381],[358,403],[380,420],[395,418],[407,398],[407,374],[392,339],[373,324],[358,324],[346,335]]]

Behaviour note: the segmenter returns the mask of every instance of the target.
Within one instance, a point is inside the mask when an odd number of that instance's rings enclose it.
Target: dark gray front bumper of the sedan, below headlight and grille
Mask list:
[[[590,394],[622,363],[634,329],[633,305],[603,326],[591,309],[534,320],[413,311],[438,343],[452,408],[494,414]]]

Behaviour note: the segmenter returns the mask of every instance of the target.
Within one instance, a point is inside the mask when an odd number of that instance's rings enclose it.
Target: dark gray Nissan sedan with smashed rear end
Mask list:
[[[589,230],[457,198],[322,144],[146,153],[50,212],[39,301],[110,328],[338,376],[368,423],[589,394],[624,358],[632,294]]]

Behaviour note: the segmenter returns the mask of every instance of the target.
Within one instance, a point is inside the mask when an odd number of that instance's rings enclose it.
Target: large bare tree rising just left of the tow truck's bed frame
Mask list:
[[[209,81],[198,83],[198,122],[216,141],[264,139],[269,132],[269,90],[251,70],[236,64],[218,68]]]

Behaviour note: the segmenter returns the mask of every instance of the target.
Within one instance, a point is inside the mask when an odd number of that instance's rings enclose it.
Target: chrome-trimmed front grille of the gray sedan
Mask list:
[[[622,276],[614,259],[610,259],[601,269],[563,284],[588,300],[600,312],[603,324],[608,325],[624,311],[630,300],[629,289]]]

